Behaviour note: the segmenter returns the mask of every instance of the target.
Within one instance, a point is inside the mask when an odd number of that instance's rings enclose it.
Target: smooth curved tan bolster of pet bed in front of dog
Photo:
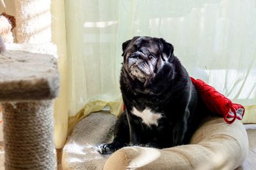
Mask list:
[[[227,124],[223,118],[207,118],[190,145],[158,150],[122,148],[107,160],[104,169],[235,169],[248,152],[243,124]]]

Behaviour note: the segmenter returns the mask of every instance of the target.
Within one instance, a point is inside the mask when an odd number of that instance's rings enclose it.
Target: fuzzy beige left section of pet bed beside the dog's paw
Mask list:
[[[97,152],[97,145],[112,141],[116,120],[114,115],[101,112],[78,122],[63,148],[63,169],[102,169],[109,155]]]

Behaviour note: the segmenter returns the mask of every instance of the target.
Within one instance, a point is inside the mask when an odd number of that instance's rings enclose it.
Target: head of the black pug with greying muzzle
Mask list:
[[[173,55],[173,46],[162,38],[134,37],[122,45],[124,68],[132,80],[147,84]]]

